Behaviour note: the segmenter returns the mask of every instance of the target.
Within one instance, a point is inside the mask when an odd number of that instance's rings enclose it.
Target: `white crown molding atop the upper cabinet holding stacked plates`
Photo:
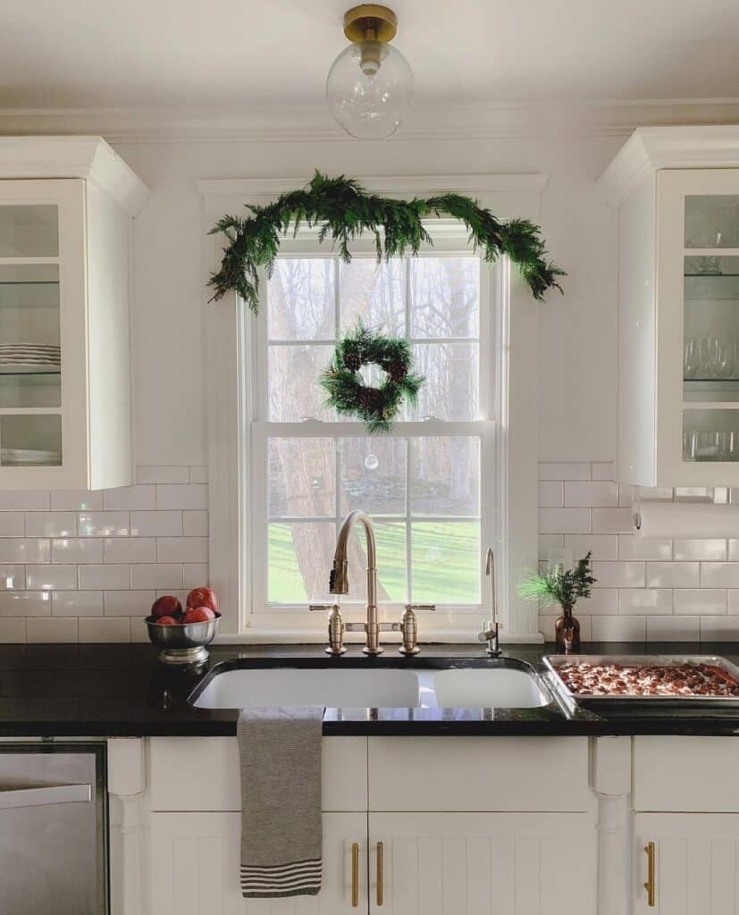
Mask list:
[[[101,136],[0,136],[0,178],[84,178],[132,217],[149,197]]]

